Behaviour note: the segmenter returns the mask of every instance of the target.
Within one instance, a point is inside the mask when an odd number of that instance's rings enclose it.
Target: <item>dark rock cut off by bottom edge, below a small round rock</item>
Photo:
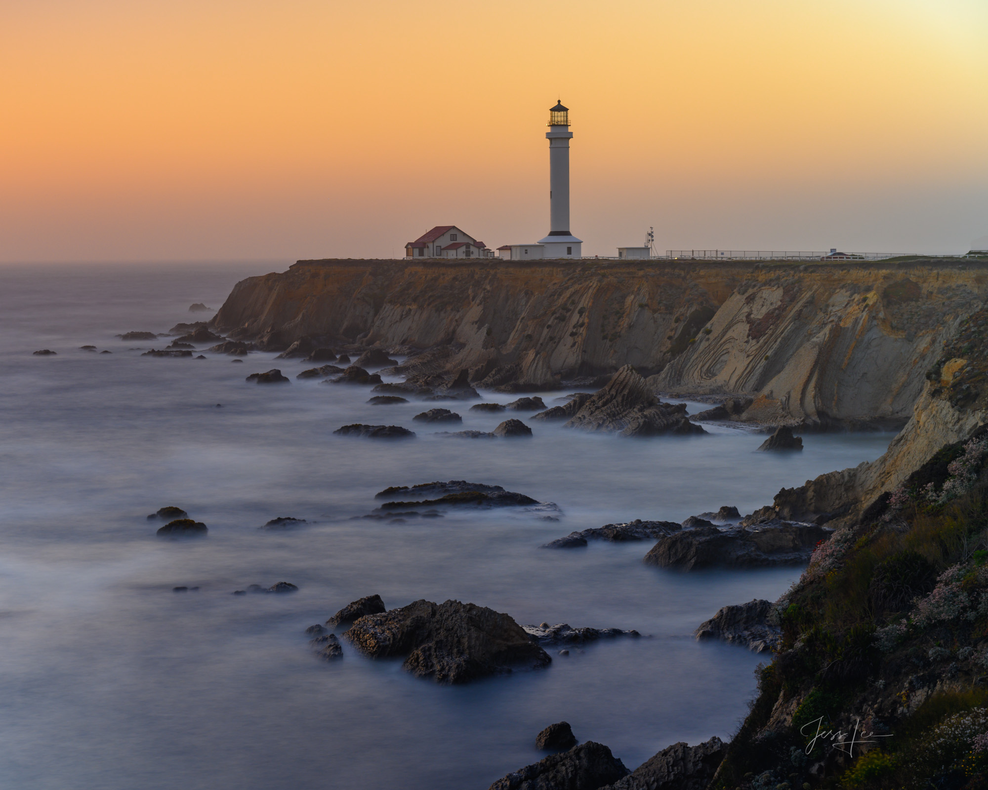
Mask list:
[[[588,741],[509,773],[489,790],[598,790],[627,772],[610,749]]]

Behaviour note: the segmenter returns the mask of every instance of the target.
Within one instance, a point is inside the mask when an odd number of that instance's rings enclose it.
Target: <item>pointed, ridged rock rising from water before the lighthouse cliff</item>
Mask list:
[[[611,382],[589,398],[567,428],[614,432],[622,436],[704,434],[686,416],[686,405],[662,403],[645,379],[626,364]]]

